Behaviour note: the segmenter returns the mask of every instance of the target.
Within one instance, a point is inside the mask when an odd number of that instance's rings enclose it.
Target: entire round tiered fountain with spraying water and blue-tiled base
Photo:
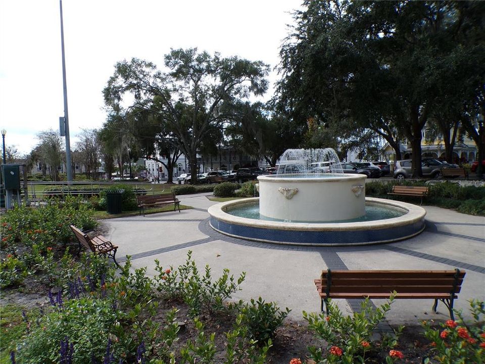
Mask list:
[[[211,206],[213,229],[282,244],[354,245],[403,240],[424,229],[425,210],[366,198],[362,174],[344,174],[331,148],[289,149],[277,174],[258,176],[260,198]]]

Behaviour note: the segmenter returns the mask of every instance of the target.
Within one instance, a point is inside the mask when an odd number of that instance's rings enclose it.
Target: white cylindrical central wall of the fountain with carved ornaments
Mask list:
[[[259,211],[266,217],[287,221],[357,218],[365,213],[365,178],[362,174],[313,178],[262,175],[258,177]]]

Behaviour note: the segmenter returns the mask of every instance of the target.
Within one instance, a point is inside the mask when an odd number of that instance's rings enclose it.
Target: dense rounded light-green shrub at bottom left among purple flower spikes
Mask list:
[[[73,343],[73,364],[102,362],[112,326],[118,321],[111,302],[80,298],[67,300],[63,308],[39,317],[30,334],[18,347],[20,362],[58,363],[61,361],[61,341]],[[116,342],[111,352],[119,357]]]

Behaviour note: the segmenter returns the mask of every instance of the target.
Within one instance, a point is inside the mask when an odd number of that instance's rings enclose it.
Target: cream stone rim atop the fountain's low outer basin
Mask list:
[[[231,224],[251,226],[253,228],[321,232],[366,231],[405,226],[423,220],[424,216],[426,215],[426,210],[420,206],[401,201],[386,200],[374,197],[366,197],[366,205],[384,205],[394,209],[404,210],[406,213],[398,217],[373,221],[308,223],[256,220],[248,217],[234,216],[225,212],[225,210],[230,207],[253,204],[257,201],[259,201],[259,197],[222,202],[209,207],[208,212],[212,217],[218,220]]]

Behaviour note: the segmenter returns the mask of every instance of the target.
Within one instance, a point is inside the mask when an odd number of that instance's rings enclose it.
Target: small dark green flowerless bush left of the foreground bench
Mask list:
[[[261,297],[257,301],[251,299],[251,303],[240,309],[249,336],[260,343],[274,338],[276,329],[283,324],[289,311],[291,310],[288,307],[281,311],[274,302],[266,303]]]

